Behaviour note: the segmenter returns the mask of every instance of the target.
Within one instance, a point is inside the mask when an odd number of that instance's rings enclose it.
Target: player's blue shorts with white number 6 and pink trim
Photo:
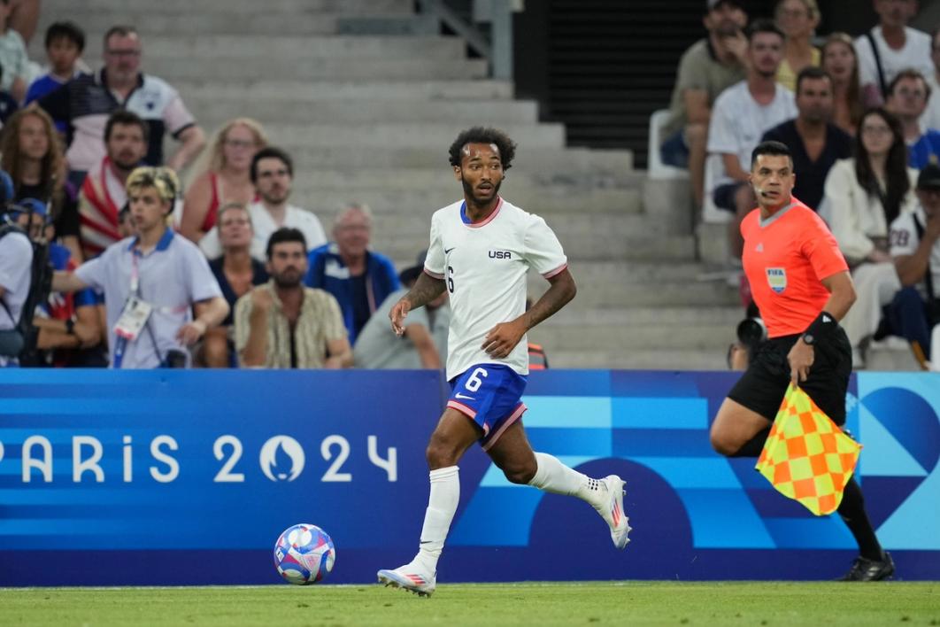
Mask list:
[[[483,430],[479,444],[489,450],[525,413],[525,382],[525,376],[502,364],[471,366],[450,381],[447,407],[478,424]]]

